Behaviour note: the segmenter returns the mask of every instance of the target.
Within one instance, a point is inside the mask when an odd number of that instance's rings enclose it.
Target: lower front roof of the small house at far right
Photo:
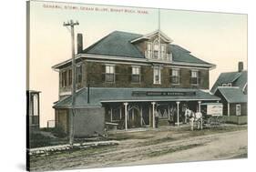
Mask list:
[[[239,87],[218,87],[218,90],[229,103],[247,103],[247,95]]]

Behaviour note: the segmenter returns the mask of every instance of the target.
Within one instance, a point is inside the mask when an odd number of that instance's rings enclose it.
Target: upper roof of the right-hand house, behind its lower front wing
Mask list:
[[[247,70],[241,72],[221,73],[217,81],[211,87],[210,92],[215,93],[218,86],[222,86],[222,84],[228,83],[231,83],[232,86],[238,86],[242,89],[247,83]]]

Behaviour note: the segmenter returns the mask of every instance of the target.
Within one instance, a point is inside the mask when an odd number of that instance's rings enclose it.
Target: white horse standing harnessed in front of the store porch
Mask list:
[[[196,112],[194,113],[189,108],[185,111],[185,122],[187,122],[187,117],[189,117],[189,123],[191,126],[191,130],[194,128],[194,122],[197,123],[198,129],[202,129],[202,113]]]

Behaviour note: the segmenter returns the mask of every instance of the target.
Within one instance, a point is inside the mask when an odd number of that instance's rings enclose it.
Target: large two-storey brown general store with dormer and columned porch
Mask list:
[[[76,135],[101,132],[106,124],[155,127],[155,109],[160,126],[169,120],[179,126],[186,106],[200,111],[201,103],[220,101],[207,91],[215,65],[172,42],[159,30],[148,35],[114,31],[84,49],[78,34]],[[56,126],[68,133],[71,59],[53,68],[59,73]]]

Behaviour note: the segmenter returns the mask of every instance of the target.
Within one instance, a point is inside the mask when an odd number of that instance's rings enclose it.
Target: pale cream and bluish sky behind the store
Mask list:
[[[29,89],[41,91],[41,127],[54,120],[58,100],[58,73],[51,67],[71,58],[70,31],[63,26],[70,19],[79,22],[75,33],[83,34],[85,48],[115,30],[146,35],[160,26],[172,44],[216,65],[210,87],[221,72],[236,71],[239,61],[247,68],[247,15],[168,9],[159,15],[153,8],[30,3]]]

